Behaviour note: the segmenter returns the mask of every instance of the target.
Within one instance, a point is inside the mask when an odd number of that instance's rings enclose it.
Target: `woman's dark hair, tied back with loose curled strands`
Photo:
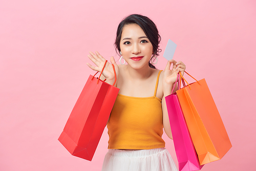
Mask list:
[[[161,52],[162,50],[159,49],[161,36],[158,34],[157,27],[150,18],[143,15],[139,15],[139,14],[132,14],[125,17],[121,21],[121,23],[118,25],[118,28],[116,31],[116,41],[114,44],[117,54],[120,55],[120,51],[121,51],[120,40],[121,40],[122,29],[125,25],[129,25],[129,24],[137,24],[140,26],[140,28],[144,31],[144,33],[146,34],[147,38],[150,40],[153,46],[154,56],[159,56],[159,52]],[[156,67],[153,66],[152,63],[150,63],[150,61],[148,61],[148,66],[156,69]]]

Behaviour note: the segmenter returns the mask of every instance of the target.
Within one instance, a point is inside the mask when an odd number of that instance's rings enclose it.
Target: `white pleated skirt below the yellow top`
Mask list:
[[[166,148],[109,149],[102,171],[178,171]]]

